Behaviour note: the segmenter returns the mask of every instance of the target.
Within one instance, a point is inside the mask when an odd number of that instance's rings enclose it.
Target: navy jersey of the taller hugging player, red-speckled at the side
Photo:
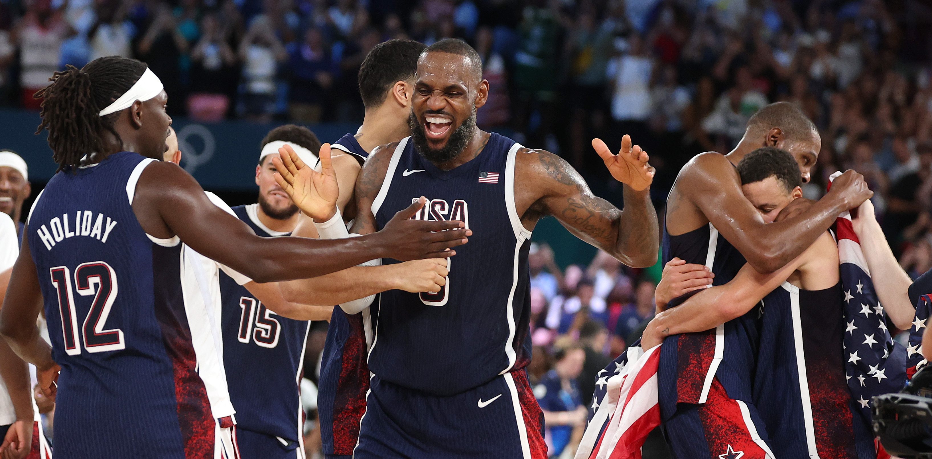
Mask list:
[[[674,257],[705,264],[715,273],[713,285],[728,283],[745,264],[712,223],[672,236],[664,231],[664,263]],[[681,303],[682,299],[678,299]],[[677,301],[673,304],[678,304]],[[664,419],[677,403],[705,403],[713,378],[718,377],[730,398],[751,399],[751,373],[757,355],[757,308],[715,330],[667,337],[658,369],[660,406]]]

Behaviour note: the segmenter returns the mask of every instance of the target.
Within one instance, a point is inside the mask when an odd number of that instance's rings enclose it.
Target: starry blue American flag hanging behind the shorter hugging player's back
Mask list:
[[[831,178],[839,175],[835,172]],[[870,281],[849,212],[835,220],[835,232],[844,294],[844,377],[857,412],[870,423],[870,398],[898,392],[906,385],[906,349],[886,329],[884,306]]]

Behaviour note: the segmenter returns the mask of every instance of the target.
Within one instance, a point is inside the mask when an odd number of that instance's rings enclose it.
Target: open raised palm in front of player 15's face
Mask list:
[[[330,143],[321,145],[321,171],[305,164],[291,146],[279,148],[281,158],[273,157],[275,182],[291,196],[298,209],[308,217],[322,223],[336,213],[336,198],[340,188],[336,183],[336,170],[330,161]]]

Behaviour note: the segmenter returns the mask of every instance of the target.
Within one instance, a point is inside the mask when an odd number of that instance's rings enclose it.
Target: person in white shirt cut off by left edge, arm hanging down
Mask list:
[[[7,290],[19,247],[13,220],[0,215],[0,291]],[[4,433],[0,455],[50,459],[51,449],[33,402],[29,365],[6,342],[0,343],[0,374],[4,381],[0,385],[0,432]]]

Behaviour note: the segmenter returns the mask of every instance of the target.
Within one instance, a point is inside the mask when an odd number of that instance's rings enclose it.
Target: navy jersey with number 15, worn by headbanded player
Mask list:
[[[287,235],[270,234],[255,216],[257,207],[233,211],[258,236]],[[275,314],[222,271],[220,298],[226,385],[237,427],[279,437],[296,448],[303,434],[298,390],[310,322]]]

